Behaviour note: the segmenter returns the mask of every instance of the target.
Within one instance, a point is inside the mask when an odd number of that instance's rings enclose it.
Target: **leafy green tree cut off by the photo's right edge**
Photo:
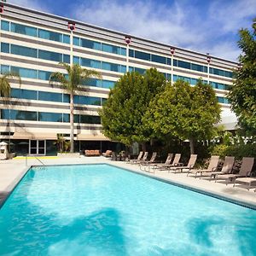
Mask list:
[[[238,46],[241,67],[235,72],[236,79],[230,86],[229,99],[232,110],[241,127],[251,135],[256,135],[256,19],[253,32],[241,29]]]

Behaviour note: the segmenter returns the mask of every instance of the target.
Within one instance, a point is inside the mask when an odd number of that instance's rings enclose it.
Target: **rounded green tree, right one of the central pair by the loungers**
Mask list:
[[[220,106],[210,85],[200,80],[191,87],[189,83],[178,80],[155,97],[143,122],[160,137],[171,135],[188,139],[190,153],[194,154],[195,141],[211,139],[219,118]]]

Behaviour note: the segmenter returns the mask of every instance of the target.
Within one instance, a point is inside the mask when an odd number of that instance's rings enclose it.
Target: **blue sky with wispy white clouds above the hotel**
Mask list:
[[[8,0],[177,47],[236,61],[238,30],[251,27],[256,0]]]

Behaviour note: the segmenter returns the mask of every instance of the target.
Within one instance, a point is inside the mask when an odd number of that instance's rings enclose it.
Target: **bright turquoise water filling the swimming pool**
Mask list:
[[[256,211],[108,165],[33,168],[0,210],[0,254],[256,255]]]

